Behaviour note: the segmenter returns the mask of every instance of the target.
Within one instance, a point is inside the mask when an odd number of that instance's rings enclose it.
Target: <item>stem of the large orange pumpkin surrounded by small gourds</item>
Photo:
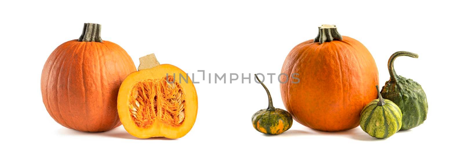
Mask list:
[[[335,25],[322,25],[317,28],[319,29],[319,32],[317,33],[317,37],[314,38],[314,42],[322,44],[333,40],[342,40],[342,35],[338,33]]]

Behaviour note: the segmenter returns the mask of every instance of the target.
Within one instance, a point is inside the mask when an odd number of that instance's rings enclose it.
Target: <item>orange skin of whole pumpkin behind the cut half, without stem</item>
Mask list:
[[[121,125],[117,94],[124,78],[136,71],[134,62],[110,41],[58,46],[45,62],[42,99],[50,116],[79,131],[107,131]]]

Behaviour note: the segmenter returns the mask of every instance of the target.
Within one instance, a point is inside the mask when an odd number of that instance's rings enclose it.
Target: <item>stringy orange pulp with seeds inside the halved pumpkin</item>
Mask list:
[[[185,95],[173,76],[155,80],[143,80],[131,90],[128,110],[134,123],[148,128],[155,120],[171,126],[180,126],[185,119]]]

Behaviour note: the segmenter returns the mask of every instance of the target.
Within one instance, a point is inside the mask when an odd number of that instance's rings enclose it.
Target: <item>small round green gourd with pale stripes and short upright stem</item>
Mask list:
[[[392,101],[383,99],[379,86],[377,93],[379,99],[374,99],[361,111],[361,129],[375,138],[387,138],[401,128],[401,110]]]

